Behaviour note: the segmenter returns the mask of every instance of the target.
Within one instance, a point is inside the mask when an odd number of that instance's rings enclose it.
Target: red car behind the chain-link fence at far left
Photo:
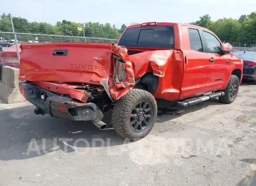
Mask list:
[[[18,48],[19,52],[21,52],[20,44],[18,44]],[[19,68],[18,54],[15,45],[3,49],[3,51],[0,51],[0,63],[11,67]]]

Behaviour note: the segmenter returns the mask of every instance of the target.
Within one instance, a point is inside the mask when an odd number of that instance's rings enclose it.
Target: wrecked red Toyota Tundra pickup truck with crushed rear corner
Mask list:
[[[150,133],[158,108],[217,98],[232,103],[242,60],[213,32],[189,24],[128,27],[117,44],[22,44],[19,88],[35,114],[92,121],[113,109],[114,130],[131,141]]]

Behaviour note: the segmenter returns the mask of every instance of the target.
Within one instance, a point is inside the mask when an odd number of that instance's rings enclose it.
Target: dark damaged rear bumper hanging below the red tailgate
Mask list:
[[[79,103],[72,98],[49,92],[28,82],[19,82],[19,89],[27,101],[36,106],[36,114],[47,113],[52,117],[74,121],[101,120],[103,114],[93,103]]]

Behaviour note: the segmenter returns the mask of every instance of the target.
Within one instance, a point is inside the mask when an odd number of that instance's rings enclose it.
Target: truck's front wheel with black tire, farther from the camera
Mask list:
[[[220,101],[224,104],[231,104],[236,100],[239,90],[239,78],[236,75],[231,75],[229,78],[228,85],[224,90],[225,95],[220,97]]]

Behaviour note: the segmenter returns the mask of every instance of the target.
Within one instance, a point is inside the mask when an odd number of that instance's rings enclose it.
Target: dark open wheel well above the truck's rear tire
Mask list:
[[[134,88],[143,89],[151,94],[154,94],[158,88],[158,76],[153,75],[152,73],[146,73],[139,80]]]

